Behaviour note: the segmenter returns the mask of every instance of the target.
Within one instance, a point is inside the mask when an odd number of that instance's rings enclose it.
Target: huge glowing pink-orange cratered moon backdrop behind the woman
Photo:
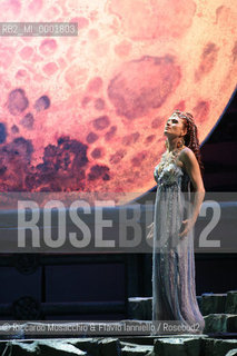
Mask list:
[[[236,86],[233,0],[2,0],[0,21],[78,23],[0,38],[0,191],[139,196],[171,111],[203,141]]]

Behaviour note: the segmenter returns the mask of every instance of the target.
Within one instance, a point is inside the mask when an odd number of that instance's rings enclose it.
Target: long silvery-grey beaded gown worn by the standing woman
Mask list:
[[[203,333],[205,320],[196,299],[194,231],[179,237],[181,221],[190,216],[190,178],[164,154],[155,167],[157,182],[152,248],[152,320],[178,320]],[[187,206],[188,205],[188,206]]]

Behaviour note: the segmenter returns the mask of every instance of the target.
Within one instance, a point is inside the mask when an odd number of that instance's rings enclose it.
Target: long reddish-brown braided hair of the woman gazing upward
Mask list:
[[[185,146],[190,148],[195,154],[197,161],[200,167],[201,175],[204,172],[204,165],[200,157],[200,145],[198,139],[198,130],[197,126],[195,125],[194,117],[190,112],[184,112],[179,110],[175,110],[176,113],[180,119],[184,120],[185,127],[187,128],[187,134],[185,135]]]

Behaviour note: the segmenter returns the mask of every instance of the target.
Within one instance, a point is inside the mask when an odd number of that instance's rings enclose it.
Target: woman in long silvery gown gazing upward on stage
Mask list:
[[[190,113],[176,110],[164,134],[167,150],[154,171],[157,194],[148,234],[154,237],[152,322],[177,320],[184,332],[199,334],[205,320],[196,300],[192,227],[205,188],[197,127]]]

